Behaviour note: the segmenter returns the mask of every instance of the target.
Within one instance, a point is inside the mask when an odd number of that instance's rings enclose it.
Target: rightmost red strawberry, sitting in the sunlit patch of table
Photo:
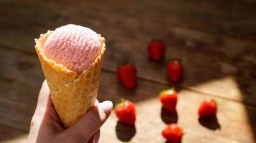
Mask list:
[[[201,102],[198,109],[199,117],[209,117],[216,115],[217,112],[217,103],[214,99],[206,99]]]

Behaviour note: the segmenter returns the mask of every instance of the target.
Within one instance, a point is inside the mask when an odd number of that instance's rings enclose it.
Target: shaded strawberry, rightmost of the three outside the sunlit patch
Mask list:
[[[178,60],[169,61],[166,67],[167,67],[167,73],[170,81],[179,82],[183,74],[183,68],[182,68],[181,62]]]

